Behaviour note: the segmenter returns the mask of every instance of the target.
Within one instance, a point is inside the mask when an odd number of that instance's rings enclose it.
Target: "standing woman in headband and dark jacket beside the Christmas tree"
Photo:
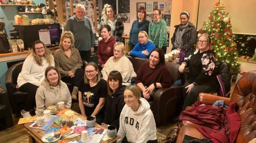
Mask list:
[[[194,52],[196,43],[196,28],[189,22],[190,14],[187,11],[180,13],[180,24],[175,27],[172,36],[172,47],[180,51],[180,63],[182,63],[190,54]]]

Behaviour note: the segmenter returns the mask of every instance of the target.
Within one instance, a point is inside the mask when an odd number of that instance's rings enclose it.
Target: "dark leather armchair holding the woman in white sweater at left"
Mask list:
[[[19,113],[22,109],[22,103],[25,102],[28,96],[27,92],[21,92],[17,86],[17,78],[21,72],[23,62],[12,65],[6,73],[5,86],[9,96],[9,100],[12,107],[12,113]]]

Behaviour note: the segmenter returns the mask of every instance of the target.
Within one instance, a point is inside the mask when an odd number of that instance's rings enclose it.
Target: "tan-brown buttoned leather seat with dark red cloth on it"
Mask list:
[[[236,103],[237,113],[241,117],[242,123],[238,132],[236,142],[249,142],[256,137],[256,71],[247,72],[236,83],[231,98],[214,96],[211,94],[200,93],[199,100],[206,105],[212,105],[216,100],[224,100],[227,105],[231,102]],[[181,122],[181,129],[177,143],[183,142],[185,134],[195,138],[205,138],[197,130],[200,125],[189,121]]]

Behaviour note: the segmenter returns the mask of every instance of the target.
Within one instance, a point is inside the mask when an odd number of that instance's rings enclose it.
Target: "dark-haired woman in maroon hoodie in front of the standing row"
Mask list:
[[[97,56],[99,65],[101,68],[104,67],[104,64],[108,61],[108,58],[113,56],[114,45],[116,44],[115,37],[110,36],[111,28],[108,25],[103,25],[100,28],[102,40],[99,41]]]

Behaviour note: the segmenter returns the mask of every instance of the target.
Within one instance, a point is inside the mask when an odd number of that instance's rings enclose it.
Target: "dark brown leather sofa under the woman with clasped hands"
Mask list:
[[[140,65],[148,58],[138,58],[127,56],[132,62],[133,69],[137,72]],[[179,64],[166,62],[171,74],[172,83],[180,79]],[[153,102],[153,114],[156,125],[159,126],[172,118],[180,111],[182,97],[182,86],[171,86],[170,88],[161,88],[155,92]]]

